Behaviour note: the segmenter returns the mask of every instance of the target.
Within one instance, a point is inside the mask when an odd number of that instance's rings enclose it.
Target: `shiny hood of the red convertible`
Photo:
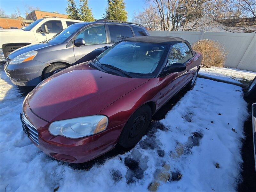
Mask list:
[[[111,75],[83,63],[44,80],[30,92],[28,105],[48,122],[96,115],[148,80]]]

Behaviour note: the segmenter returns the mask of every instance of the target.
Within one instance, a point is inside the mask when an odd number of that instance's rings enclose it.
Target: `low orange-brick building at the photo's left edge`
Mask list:
[[[33,20],[27,20],[20,16],[16,18],[0,17],[0,26],[4,29],[9,29],[11,27],[17,27],[20,29],[33,22]]]

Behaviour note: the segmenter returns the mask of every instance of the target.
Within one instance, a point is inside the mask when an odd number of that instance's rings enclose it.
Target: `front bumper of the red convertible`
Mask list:
[[[87,162],[114,148],[124,126],[108,128],[104,132],[81,139],[69,139],[51,135],[48,132],[51,123],[36,116],[29,108],[27,100],[24,101],[22,110],[38,132],[38,143],[33,138],[29,139],[48,156],[69,163]]]

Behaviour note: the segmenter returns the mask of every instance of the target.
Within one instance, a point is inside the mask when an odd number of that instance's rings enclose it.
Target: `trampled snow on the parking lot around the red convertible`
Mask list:
[[[247,108],[238,86],[198,78],[132,150],[78,170],[23,134],[24,96],[0,70],[1,191],[234,191],[241,180]]]

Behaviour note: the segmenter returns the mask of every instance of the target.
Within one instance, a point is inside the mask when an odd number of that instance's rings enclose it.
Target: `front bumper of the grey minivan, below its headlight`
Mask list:
[[[9,64],[10,59],[4,64],[4,71],[15,85],[36,86],[42,81],[42,69],[46,63],[30,60],[20,64]]]

